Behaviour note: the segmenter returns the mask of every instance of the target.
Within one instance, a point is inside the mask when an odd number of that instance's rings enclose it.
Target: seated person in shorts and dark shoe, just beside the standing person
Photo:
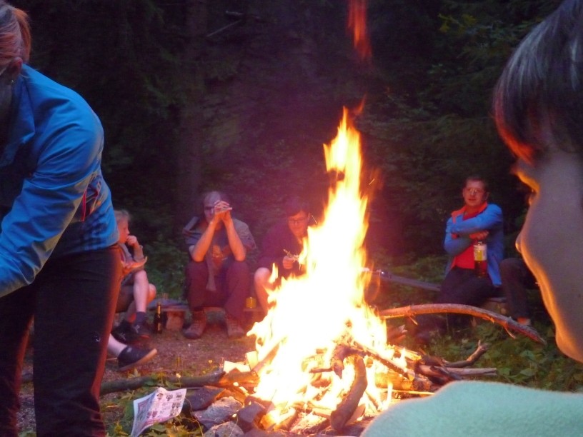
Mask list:
[[[129,213],[115,211],[119,231],[119,250],[121,254],[121,288],[117,298],[116,313],[126,311],[124,319],[111,333],[122,343],[134,343],[140,338],[149,338],[150,330],[146,324],[146,306],[156,297],[156,287],[149,283],[144,270],[146,257],[138,238],[129,233]],[[131,249],[131,250],[130,250]]]

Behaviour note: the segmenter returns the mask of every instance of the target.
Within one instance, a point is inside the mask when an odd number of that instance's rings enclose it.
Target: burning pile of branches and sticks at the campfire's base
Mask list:
[[[457,312],[467,313],[472,316],[487,318],[489,321],[499,323],[504,326],[512,335],[512,331],[532,338],[534,341],[544,342],[541,336],[534,329],[519,325],[512,319],[500,316],[481,308],[460,305],[425,305],[409,306],[404,308],[394,308],[380,312],[382,318],[412,317],[417,314],[437,313],[437,312]],[[382,364],[386,371],[375,375],[374,385],[380,388],[392,388],[393,398],[407,398],[412,396],[429,396],[434,391],[451,381],[458,381],[463,378],[474,378],[475,376],[493,376],[496,368],[469,368],[474,365],[479,358],[487,351],[488,346],[478,343],[476,350],[465,360],[449,362],[442,358],[432,356],[421,356],[419,353],[410,351],[407,348],[389,346],[383,351],[377,351],[366,346],[354,338],[345,334],[339,338],[332,351],[332,358],[324,363],[325,351],[319,351],[316,355],[307,358],[310,365],[309,373],[312,373],[310,385],[318,388],[323,393],[327,390],[330,378],[322,377],[325,373],[333,372],[339,378],[345,374],[346,366],[351,366],[354,375],[349,389],[343,394],[342,400],[334,410],[318,405],[318,398],[307,403],[293,403],[287,406],[275,406],[269,401],[256,398],[253,395],[254,388],[259,383],[259,374],[265,366],[273,359],[277,352],[279,343],[274,346],[265,358],[254,366],[249,372],[231,371],[224,373],[216,371],[204,376],[194,377],[165,377],[166,383],[186,388],[201,388],[206,391],[198,391],[197,396],[206,393],[205,402],[195,402],[191,396],[191,409],[206,408],[212,401],[229,396],[241,403],[241,408],[236,413],[236,423],[242,431],[262,430],[262,431],[293,431],[294,433],[319,433],[327,428],[334,431],[346,431],[347,426],[362,416],[374,416],[382,410],[378,399],[371,395],[369,386],[371,381],[367,381],[367,367],[374,362]],[[111,381],[101,386],[101,394],[135,389],[141,386],[155,384],[153,377],[131,378],[122,381]],[[219,390],[217,390],[217,388]],[[200,397],[200,396],[199,396]],[[363,400],[366,399],[372,404],[376,411],[366,412],[363,407]],[[279,414],[274,421],[269,415],[271,411],[277,410]],[[192,411],[191,411],[192,413]],[[317,416],[321,418],[317,423],[302,423],[302,418]]]

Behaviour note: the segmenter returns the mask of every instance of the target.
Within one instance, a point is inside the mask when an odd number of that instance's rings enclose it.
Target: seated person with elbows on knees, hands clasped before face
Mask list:
[[[247,251],[255,248],[249,226],[231,217],[231,205],[224,193],[211,191],[203,196],[202,211],[184,227],[188,248],[184,293],[192,313],[192,323],[183,333],[199,338],[206,328],[205,306],[221,306],[226,313],[229,337],[244,336],[245,299],[249,295]]]

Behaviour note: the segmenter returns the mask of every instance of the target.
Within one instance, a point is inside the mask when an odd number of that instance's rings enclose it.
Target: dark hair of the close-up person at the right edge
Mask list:
[[[566,0],[522,40],[494,89],[494,120],[519,158],[554,144],[583,154],[583,1]]]

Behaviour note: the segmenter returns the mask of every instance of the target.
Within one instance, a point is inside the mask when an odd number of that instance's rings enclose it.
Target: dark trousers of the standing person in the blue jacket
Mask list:
[[[117,248],[50,258],[0,298],[0,436],[17,436],[22,363],[34,318],[36,435],[104,436],[99,390],[121,265]]]

